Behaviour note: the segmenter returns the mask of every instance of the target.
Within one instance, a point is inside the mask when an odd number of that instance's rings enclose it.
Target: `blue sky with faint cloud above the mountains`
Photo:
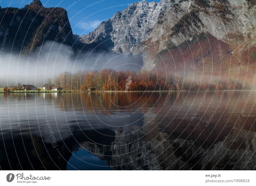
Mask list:
[[[4,7],[23,8],[32,0],[0,0]],[[101,21],[111,18],[115,12],[121,11],[139,0],[41,0],[44,7],[62,7],[68,9],[68,18],[73,34],[86,35],[93,31]],[[148,0],[153,2],[154,0]],[[160,0],[155,0],[159,2]],[[73,6],[72,6],[73,4]]]

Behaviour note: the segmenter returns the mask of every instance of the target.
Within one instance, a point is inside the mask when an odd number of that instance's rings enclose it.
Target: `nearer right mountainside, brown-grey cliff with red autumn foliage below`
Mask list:
[[[149,39],[134,47],[147,70],[197,85],[250,89],[256,70],[255,1],[165,1]],[[200,87],[202,89],[202,87]]]

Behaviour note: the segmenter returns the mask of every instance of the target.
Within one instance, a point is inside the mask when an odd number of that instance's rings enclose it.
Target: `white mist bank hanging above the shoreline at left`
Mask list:
[[[118,55],[111,48],[102,52],[75,52],[70,46],[45,42],[30,56],[22,56],[4,51],[0,63],[0,87],[20,84],[32,84],[42,87],[49,78],[54,79],[60,73],[101,71],[111,68],[116,71],[140,71],[143,60],[140,55]]]

